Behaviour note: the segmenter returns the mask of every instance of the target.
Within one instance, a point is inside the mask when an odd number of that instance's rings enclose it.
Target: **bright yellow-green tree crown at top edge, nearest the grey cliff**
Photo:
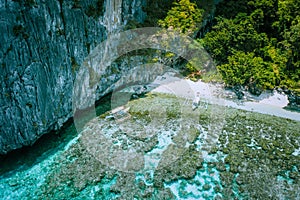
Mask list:
[[[158,24],[164,28],[192,35],[201,25],[203,13],[204,11],[197,8],[195,3],[189,0],[180,0],[173,3],[167,17],[159,20]]]

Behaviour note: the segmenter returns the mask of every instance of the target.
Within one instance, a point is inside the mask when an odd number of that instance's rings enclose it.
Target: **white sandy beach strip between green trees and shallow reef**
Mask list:
[[[283,109],[283,107],[288,105],[288,98],[286,95],[277,92],[264,92],[258,97],[247,94],[247,99],[250,98],[251,101],[237,100],[232,91],[227,91],[222,86],[204,83],[201,80],[193,82],[180,79],[172,76],[172,74],[158,77],[153,82],[153,85],[157,86],[152,90],[153,92],[174,94],[187,99],[194,99],[197,94],[200,94],[201,102],[300,121],[299,112]]]

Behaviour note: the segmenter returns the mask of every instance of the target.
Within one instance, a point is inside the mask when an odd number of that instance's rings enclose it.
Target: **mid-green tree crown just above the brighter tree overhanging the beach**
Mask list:
[[[211,53],[217,64],[228,62],[235,51],[260,53],[268,45],[266,34],[255,30],[252,19],[240,13],[234,19],[217,18],[213,30],[205,35],[201,43]]]

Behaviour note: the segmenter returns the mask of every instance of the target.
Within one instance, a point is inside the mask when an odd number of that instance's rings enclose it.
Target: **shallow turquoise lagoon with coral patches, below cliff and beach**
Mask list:
[[[299,198],[299,121],[202,105],[149,93],[125,105],[127,120],[105,112],[29,167],[6,170],[0,198]]]

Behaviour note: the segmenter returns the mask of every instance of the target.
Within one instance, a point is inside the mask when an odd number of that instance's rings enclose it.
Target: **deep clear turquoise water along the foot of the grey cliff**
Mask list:
[[[108,111],[110,96],[101,99],[97,105],[97,115]],[[0,199],[36,199],[35,193],[45,183],[47,175],[58,166],[60,155],[76,144],[79,137],[74,124],[67,122],[61,130],[44,135],[32,147],[16,150],[1,158]]]

